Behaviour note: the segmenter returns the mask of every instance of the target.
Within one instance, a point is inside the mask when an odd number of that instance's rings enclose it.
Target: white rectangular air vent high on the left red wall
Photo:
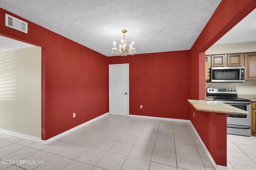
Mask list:
[[[8,14],[5,14],[5,26],[28,33],[28,23]]]

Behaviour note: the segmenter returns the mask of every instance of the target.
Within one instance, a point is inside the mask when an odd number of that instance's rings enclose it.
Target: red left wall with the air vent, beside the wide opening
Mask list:
[[[0,35],[42,47],[42,140],[108,112],[106,56],[27,20],[28,34],[6,27],[5,13],[24,20],[0,8]]]

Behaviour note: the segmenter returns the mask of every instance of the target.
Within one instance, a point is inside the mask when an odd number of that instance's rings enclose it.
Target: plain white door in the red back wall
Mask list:
[[[128,116],[129,64],[109,64],[109,113]]]

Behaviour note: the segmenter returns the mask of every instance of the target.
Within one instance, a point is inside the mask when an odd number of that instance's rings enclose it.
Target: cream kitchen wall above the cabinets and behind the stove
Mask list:
[[[206,55],[249,53],[256,52],[256,41],[246,43],[231,43],[212,45],[205,51]],[[256,71],[256,70],[255,70]],[[256,81],[246,81],[243,83],[206,83],[205,88],[237,88],[238,94],[256,94]]]

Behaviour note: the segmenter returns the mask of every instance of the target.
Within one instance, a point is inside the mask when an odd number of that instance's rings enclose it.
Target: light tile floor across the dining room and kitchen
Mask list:
[[[256,170],[256,137],[227,142],[228,170]],[[0,160],[15,162],[0,170],[214,170],[190,123],[116,115],[47,145],[0,133]]]

